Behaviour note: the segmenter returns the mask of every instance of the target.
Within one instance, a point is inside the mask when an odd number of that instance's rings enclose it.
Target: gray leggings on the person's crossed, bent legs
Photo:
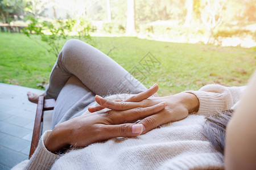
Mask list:
[[[52,68],[45,97],[55,98],[52,128],[80,116],[94,96],[138,94],[146,90],[112,58],[80,40],[68,40]]]

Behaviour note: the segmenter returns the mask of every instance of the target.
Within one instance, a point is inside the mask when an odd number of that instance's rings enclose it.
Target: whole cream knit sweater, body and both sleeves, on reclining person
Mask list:
[[[112,138],[63,155],[47,151],[46,131],[30,160],[13,169],[223,169],[223,156],[202,134],[205,116],[234,108],[245,87],[204,86],[199,111],[134,138]]]

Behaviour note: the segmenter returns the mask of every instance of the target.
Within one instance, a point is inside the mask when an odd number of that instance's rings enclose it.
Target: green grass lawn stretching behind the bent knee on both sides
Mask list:
[[[159,84],[159,95],[198,90],[209,83],[242,86],[256,69],[255,48],[221,47],[142,40],[135,37],[93,37],[94,46],[126,70],[135,66],[145,86]],[[42,43],[42,42],[40,42]],[[42,43],[43,44],[43,43]],[[47,46],[46,44],[43,44]],[[0,33],[0,82],[40,88],[48,81],[56,57],[19,33]],[[139,61],[150,52],[160,63],[149,73]],[[139,73],[139,72],[138,72]]]

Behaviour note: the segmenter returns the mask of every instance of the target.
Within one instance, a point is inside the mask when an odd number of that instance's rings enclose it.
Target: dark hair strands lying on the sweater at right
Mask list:
[[[226,125],[232,117],[234,110],[225,110],[218,114],[206,117],[203,125],[203,134],[207,137],[213,147],[224,155]]]

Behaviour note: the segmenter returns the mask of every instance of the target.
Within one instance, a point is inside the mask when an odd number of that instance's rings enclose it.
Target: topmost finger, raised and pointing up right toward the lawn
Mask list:
[[[143,91],[137,95],[131,96],[125,101],[139,102],[154,95],[157,91],[158,91],[158,84],[154,84],[152,87],[148,88],[146,91]]]

